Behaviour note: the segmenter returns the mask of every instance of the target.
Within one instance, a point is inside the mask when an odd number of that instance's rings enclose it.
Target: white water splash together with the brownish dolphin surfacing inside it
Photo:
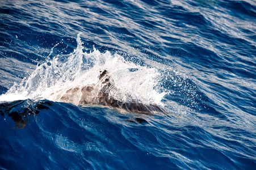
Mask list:
[[[164,92],[158,91],[156,69],[127,62],[110,52],[77,49],[37,66],[22,83],[0,96],[0,101],[47,99],[74,105],[100,104],[137,113],[165,112],[158,107]]]

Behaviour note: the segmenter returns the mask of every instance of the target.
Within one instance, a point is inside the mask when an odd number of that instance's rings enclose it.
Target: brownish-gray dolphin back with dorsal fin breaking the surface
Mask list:
[[[145,105],[142,103],[137,103],[136,101],[124,103],[114,99],[114,97],[110,95],[110,90],[115,89],[115,86],[113,83],[111,83],[110,79],[111,77],[107,70],[101,71],[98,83],[90,86],[84,86],[82,88],[70,88],[65,92],[64,95],[60,97],[60,101],[75,104],[75,99],[77,99],[79,94],[82,94],[78,105],[104,105],[112,108],[123,109],[128,112],[142,114],[166,113],[157,105]]]

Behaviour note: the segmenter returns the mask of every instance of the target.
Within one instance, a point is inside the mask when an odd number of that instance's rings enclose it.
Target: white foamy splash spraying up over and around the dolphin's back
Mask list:
[[[14,84],[0,101],[24,99],[48,99],[60,101],[57,95],[65,94],[70,88],[82,88],[96,84],[100,71],[107,70],[115,89],[110,94],[116,100],[139,101],[144,104],[161,105],[165,93],[157,91],[157,69],[135,65],[125,61],[119,54],[83,52],[80,34],[77,48],[69,55],[58,55],[38,65],[36,70],[22,83]],[[55,95],[56,94],[56,95]]]

